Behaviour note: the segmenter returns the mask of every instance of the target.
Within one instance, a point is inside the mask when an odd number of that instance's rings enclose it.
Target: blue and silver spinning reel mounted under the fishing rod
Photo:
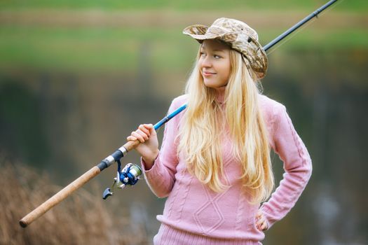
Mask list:
[[[116,173],[116,178],[114,178],[114,183],[112,183],[111,188],[104,190],[102,194],[102,199],[106,200],[107,197],[114,195],[114,188],[123,189],[125,186],[134,186],[138,180],[139,176],[142,175],[142,169],[138,165],[133,165],[128,163],[123,169],[121,169],[121,162],[118,162],[118,172]]]

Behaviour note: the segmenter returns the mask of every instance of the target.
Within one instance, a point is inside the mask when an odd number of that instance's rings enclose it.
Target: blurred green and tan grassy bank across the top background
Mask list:
[[[266,45],[325,1],[2,1],[0,70],[136,72],[139,51],[154,69],[179,71],[196,43],[182,29],[220,16],[245,20]],[[284,52],[368,48],[368,1],[338,1]],[[365,10],[365,11],[364,11]],[[180,71],[179,71],[180,72]]]

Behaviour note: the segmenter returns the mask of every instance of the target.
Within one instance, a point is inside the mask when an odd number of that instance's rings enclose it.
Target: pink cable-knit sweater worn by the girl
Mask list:
[[[182,95],[172,101],[169,112],[186,103]],[[255,216],[260,208],[266,216],[268,228],[283,218],[297,202],[306,187],[311,171],[311,158],[294,130],[285,106],[264,95],[259,95],[264,113],[269,143],[284,162],[285,174],[280,186],[268,202],[252,205],[242,189],[241,171],[231,155],[231,140],[224,134],[222,157],[224,179],[231,188],[214,193],[203,186],[195,176],[186,171],[182,155],[177,155],[179,121],[185,111],[165,125],[161,151],[153,167],[142,167],[146,181],[158,197],[168,197],[163,215],[158,215],[162,225],[155,244],[260,244],[264,232],[257,230]]]

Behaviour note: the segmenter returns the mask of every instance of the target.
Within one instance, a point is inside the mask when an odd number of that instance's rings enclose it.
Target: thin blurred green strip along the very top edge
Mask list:
[[[343,1],[343,0],[339,0]],[[262,1],[242,1],[242,0],[90,0],[90,1],[47,1],[47,0],[13,0],[1,1],[1,8],[64,8],[64,9],[78,9],[78,8],[98,8],[98,9],[129,9],[129,10],[235,10],[235,9],[263,9],[263,10],[288,10],[288,9],[306,9],[310,10],[315,6],[322,6],[327,1],[293,1],[293,0],[262,0]],[[368,8],[368,3],[365,0],[355,0],[343,2],[343,8],[346,10],[364,11]]]

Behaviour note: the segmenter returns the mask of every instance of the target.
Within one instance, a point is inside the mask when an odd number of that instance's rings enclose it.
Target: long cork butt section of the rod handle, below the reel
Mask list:
[[[26,228],[27,225],[35,221],[37,218],[45,214],[49,209],[54,207],[59,202],[62,202],[65,198],[67,198],[71,193],[74,193],[75,190],[81,188],[85,183],[93,179],[97,174],[100,174],[101,170],[95,166],[92,169],[88,170],[88,172],[81,175],[75,181],[69,183],[68,186],[65,186],[62,190],[58,193],[50,197],[46,202],[43,202],[39,207],[31,211],[25,217],[23,217],[19,223],[22,228]]]

